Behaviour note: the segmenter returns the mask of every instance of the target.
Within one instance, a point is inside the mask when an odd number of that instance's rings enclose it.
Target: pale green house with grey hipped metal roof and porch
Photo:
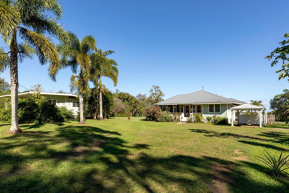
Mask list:
[[[175,95],[154,105],[160,106],[162,111],[178,113],[184,117],[183,121],[187,120],[186,117],[199,114],[204,118],[213,115],[226,117],[230,123],[230,108],[242,104],[246,102],[200,90],[190,94]]]

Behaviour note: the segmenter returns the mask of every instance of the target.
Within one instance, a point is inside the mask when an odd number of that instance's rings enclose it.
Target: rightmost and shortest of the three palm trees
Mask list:
[[[117,84],[117,77],[118,77],[118,69],[117,69],[117,63],[113,59],[107,58],[110,54],[114,53],[112,50],[108,50],[105,52],[102,52],[101,49],[97,49],[95,53],[92,54],[92,63],[94,66],[95,73],[97,75],[97,80],[94,80],[94,82],[98,81],[98,87],[99,87],[99,119],[103,120],[102,115],[102,91],[103,86],[101,83],[101,77],[105,76],[110,78],[114,86]],[[95,77],[95,76],[92,76]]]

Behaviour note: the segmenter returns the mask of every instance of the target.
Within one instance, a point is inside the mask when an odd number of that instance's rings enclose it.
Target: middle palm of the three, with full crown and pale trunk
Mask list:
[[[75,34],[69,33],[70,44],[68,48],[64,44],[58,45],[58,51],[61,57],[61,68],[70,67],[73,73],[70,80],[71,92],[77,90],[79,92],[79,124],[84,124],[83,119],[83,96],[89,91],[89,80],[91,80],[91,54],[96,49],[96,40],[93,36],[84,36],[80,41]]]

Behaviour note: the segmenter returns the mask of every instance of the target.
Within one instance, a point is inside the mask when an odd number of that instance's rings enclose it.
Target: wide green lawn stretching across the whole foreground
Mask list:
[[[0,124],[0,192],[288,192],[255,159],[289,153],[289,130],[77,120]]]

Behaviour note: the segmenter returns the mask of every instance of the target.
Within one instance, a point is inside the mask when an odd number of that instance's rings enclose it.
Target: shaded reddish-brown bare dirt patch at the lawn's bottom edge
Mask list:
[[[212,178],[214,183],[207,184],[209,190],[211,190],[213,193],[229,192],[227,186],[234,181],[234,179],[227,174],[227,172],[230,172],[230,170],[225,164],[212,165],[211,169],[213,171]]]

